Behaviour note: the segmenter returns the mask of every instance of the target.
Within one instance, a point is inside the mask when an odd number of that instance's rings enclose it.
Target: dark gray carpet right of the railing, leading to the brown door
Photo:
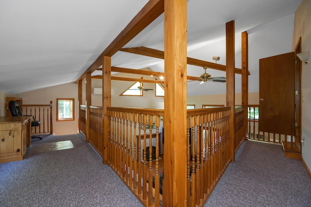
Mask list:
[[[244,141],[205,207],[311,207],[311,179],[282,146]]]

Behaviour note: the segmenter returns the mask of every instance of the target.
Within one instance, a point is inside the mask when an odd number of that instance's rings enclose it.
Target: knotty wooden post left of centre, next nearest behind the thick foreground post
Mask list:
[[[111,57],[103,58],[103,163],[108,163],[108,114],[107,107],[111,106]]]

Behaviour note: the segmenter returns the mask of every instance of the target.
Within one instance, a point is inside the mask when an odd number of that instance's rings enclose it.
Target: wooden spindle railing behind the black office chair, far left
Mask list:
[[[32,134],[53,133],[52,101],[50,101],[50,104],[23,104],[20,107],[23,115],[34,116],[36,121],[41,122],[38,127],[32,127]]]

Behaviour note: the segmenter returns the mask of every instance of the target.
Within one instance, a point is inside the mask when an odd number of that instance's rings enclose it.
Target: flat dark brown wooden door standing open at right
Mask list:
[[[259,60],[259,131],[295,135],[294,52]]]

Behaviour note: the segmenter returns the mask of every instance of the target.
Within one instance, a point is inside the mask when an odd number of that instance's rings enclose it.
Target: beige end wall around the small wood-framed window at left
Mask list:
[[[50,104],[50,101],[53,101],[53,133],[55,135],[78,133],[78,84],[66,83],[17,96],[23,98],[23,104]],[[56,121],[56,98],[74,98],[74,121]]]

